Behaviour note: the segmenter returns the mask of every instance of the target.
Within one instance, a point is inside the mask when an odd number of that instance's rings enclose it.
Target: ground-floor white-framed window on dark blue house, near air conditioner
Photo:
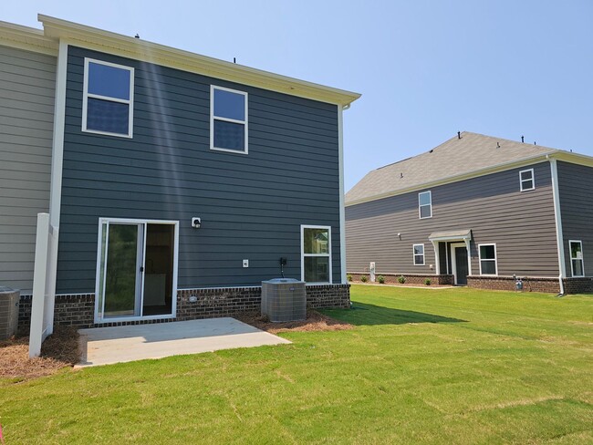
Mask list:
[[[331,283],[331,228],[301,226],[301,280]]]

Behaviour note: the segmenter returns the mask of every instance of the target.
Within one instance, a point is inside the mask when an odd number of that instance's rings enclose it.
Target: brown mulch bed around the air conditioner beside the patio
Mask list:
[[[336,320],[330,316],[324,316],[312,309],[307,310],[307,320],[302,321],[272,323],[268,320],[267,316],[262,316],[259,312],[236,314],[234,318],[270,334],[295,331],[341,331],[354,327],[349,323]]]

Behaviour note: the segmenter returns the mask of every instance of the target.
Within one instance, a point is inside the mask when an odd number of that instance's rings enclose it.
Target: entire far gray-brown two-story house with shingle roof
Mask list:
[[[346,194],[348,272],[593,292],[593,158],[463,132]]]

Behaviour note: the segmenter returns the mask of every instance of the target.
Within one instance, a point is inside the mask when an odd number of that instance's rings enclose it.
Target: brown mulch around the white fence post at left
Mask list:
[[[62,367],[78,363],[78,331],[57,326],[41,346],[41,357],[29,358],[29,337],[0,341],[0,378],[23,381],[54,374]]]

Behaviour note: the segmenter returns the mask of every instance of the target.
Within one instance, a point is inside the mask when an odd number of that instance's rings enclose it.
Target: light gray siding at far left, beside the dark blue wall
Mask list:
[[[49,210],[56,57],[0,47],[0,284],[30,294]]]

